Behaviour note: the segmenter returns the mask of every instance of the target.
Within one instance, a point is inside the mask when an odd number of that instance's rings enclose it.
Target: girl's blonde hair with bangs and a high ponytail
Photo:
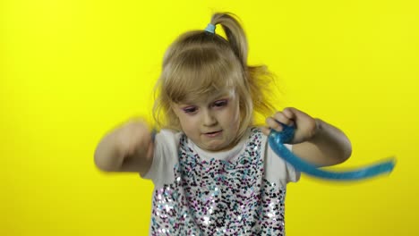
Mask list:
[[[214,13],[210,23],[221,25],[226,38],[192,30],[175,39],[163,58],[155,88],[153,117],[158,128],[182,131],[173,103],[194,101],[218,89],[233,89],[239,97],[240,139],[254,125],[254,113],[274,112],[266,97],[273,74],[265,65],[247,64],[247,39],[233,13]],[[238,18],[237,18],[238,19]]]

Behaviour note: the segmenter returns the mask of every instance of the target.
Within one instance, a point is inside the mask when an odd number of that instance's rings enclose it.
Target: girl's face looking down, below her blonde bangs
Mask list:
[[[199,101],[173,105],[182,130],[189,139],[208,151],[234,147],[240,127],[238,97],[232,91],[220,91]]]

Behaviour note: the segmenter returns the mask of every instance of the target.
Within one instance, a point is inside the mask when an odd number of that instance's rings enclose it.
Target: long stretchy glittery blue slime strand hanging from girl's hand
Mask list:
[[[307,173],[314,177],[319,177],[322,179],[336,180],[336,181],[355,181],[371,178],[373,176],[390,173],[395,164],[395,158],[392,158],[389,161],[381,162],[379,164],[373,164],[363,168],[356,169],[354,171],[347,172],[329,172],[319,169],[314,164],[310,164],[295,156],[291,151],[289,151],[284,143],[289,142],[293,139],[295,128],[292,126],[287,126],[284,123],[280,123],[284,128],[283,131],[270,131],[269,133],[269,145],[272,147],[272,150],[287,163],[293,165],[296,170]]]

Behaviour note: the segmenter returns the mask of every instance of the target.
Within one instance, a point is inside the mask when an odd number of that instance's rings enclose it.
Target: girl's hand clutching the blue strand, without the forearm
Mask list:
[[[263,127],[262,132],[265,135],[269,135],[270,129],[282,131],[282,126],[278,122],[296,126],[294,139],[290,144],[301,143],[312,139],[318,130],[318,123],[312,116],[294,107],[286,107],[282,112],[277,112],[272,117],[266,119],[268,127]]]

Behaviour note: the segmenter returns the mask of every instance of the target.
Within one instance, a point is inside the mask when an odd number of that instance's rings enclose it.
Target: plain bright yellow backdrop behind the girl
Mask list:
[[[389,176],[288,186],[287,235],[419,235],[419,4],[355,1],[0,1],[0,235],[146,235],[152,184],[100,173],[98,140],[150,117],[167,46],[236,13],[250,63],[285,105],[337,125]]]

